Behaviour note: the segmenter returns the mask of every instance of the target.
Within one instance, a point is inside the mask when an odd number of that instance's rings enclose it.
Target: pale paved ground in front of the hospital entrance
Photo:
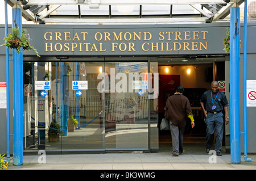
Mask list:
[[[184,147],[179,157],[172,157],[168,146],[159,153],[24,155],[23,165],[14,166],[11,158],[7,170],[256,170],[256,154],[248,155],[251,162],[241,156],[237,164],[227,153],[219,157],[205,153],[204,146]]]

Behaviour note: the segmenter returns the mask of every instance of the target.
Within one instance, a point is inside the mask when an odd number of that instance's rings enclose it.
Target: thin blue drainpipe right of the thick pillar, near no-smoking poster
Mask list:
[[[245,11],[244,11],[244,20],[243,20],[243,33],[244,33],[244,40],[243,40],[243,133],[244,133],[244,159],[245,161],[251,162],[251,158],[247,158],[247,103],[246,103],[246,61],[247,61],[247,0],[245,0]]]

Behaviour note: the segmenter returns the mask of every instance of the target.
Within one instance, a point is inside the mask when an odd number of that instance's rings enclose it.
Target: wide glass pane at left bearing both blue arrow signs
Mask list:
[[[102,62],[24,62],[26,150],[105,150]]]

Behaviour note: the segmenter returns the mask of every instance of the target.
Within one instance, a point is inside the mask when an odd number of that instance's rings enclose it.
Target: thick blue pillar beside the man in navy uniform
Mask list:
[[[240,142],[240,8],[230,9],[230,155],[241,162]]]

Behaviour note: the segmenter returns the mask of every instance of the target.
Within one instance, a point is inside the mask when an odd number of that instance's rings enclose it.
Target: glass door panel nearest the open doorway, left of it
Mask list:
[[[147,69],[147,62],[105,62],[107,151],[148,150]]]

